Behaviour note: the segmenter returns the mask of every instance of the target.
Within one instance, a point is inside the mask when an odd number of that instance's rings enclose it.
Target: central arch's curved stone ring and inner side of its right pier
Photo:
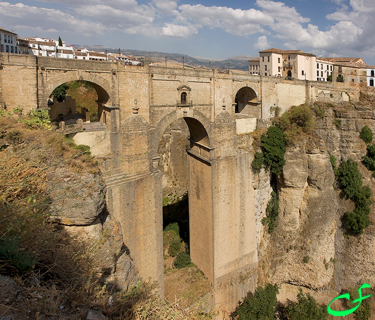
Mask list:
[[[192,262],[213,283],[212,169],[209,121],[196,110],[174,110],[157,124],[156,141],[174,120],[183,118],[190,132],[188,159],[189,250]],[[203,124],[205,123],[205,125]],[[173,151],[172,151],[173,152]]]

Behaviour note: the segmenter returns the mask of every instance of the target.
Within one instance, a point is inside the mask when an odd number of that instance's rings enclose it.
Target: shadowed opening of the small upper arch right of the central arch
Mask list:
[[[260,117],[258,110],[258,98],[254,89],[243,86],[235,94],[235,113],[247,114],[252,117]]]

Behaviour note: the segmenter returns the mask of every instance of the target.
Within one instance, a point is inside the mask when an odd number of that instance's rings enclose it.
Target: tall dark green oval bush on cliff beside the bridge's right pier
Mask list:
[[[285,138],[284,133],[278,126],[270,126],[267,134],[260,137],[264,162],[270,166],[270,171],[277,175],[281,174],[282,166],[285,164]]]

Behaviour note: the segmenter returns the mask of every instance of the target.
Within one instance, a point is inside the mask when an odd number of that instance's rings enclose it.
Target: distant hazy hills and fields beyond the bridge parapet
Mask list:
[[[114,48],[107,48],[103,45],[79,45],[74,44],[76,48],[87,48],[93,51],[105,51],[117,53],[118,49]],[[182,65],[182,57],[184,58],[184,63],[186,67],[209,67],[212,68],[228,68],[228,63],[230,69],[235,70],[248,70],[248,60],[255,58],[256,56],[250,55],[237,55],[231,56],[227,59],[220,60],[220,59],[210,59],[204,58],[199,56],[189,56],[186,54],[180,53],[168,53],[168,52],[159,52],[159,51],[147,51],[147,50],[134,50],[134,49],[120,49],[121,53],[124,55],[129,55],[136,57],[138,60],[143,61],[144,63],[152,63],[152,64],[159,64],[165,65],[165,57],[167,57],[167,65]],[[209,63],[211,62],[211,64]]]

